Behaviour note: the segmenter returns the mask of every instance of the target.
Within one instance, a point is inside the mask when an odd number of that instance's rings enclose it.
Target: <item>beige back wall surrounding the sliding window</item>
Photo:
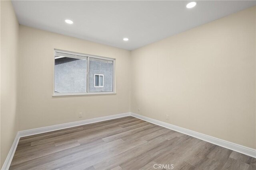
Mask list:
[[[19,35],[19,130],[130,111],[130,51],[23,25]],[[54,49],[115,58],[117,94],[53,98]]]

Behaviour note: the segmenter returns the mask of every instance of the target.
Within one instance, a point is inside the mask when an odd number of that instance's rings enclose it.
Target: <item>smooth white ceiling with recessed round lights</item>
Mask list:
[[[133,50],[256,5],[256,1],[12,1],[22,25]],[[72,25],[65,19],[74,21]],[[129,41],[123,41],[128,37]]]

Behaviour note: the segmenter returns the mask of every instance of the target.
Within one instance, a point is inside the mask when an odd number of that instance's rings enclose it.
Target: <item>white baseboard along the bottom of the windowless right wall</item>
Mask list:
[[[232,143],[232,142],[228,142],[228,141],[224,141],[222,139],[218,139],[215,137],[211,137],[202,133],[198,133],[195,131],[191,131],[182,127],[178,127],[169,123],[165,123],[162,121],[158,121],[156,119],[151,119],[149,117],[145,117],[142,115],[138,115],[136,113],[131,113],[131,116],[136,117],[138,119],[142,119],[144,121],[148,121],[150,123],[162,126],[162,127],[166,127],[168,129],[180,132],[180,133],[184,133],[186,135],[201,139],[203,141],[209,142],[209,143],[213,143],[214,145],[218,145],[220,147],[224,147],[226,149],[230,149],[230,150],[234,150],[236,152],[242,153],[242,154],[246,154],[248,156],[254,157],[256,158],[256,149],[252,149],[252,148],[248,148],[242,145],[238,145],[236,143]]]

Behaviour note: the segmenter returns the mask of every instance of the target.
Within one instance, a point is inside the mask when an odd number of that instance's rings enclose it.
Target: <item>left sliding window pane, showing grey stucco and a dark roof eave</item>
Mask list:
[[[55,57],[54,91],[55,93],[86,92],[87,58],[68,56]]]

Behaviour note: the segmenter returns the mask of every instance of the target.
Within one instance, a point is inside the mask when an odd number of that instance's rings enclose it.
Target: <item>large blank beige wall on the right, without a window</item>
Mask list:
[[[131,111],[255,149],[255,11],[132,51]]]

